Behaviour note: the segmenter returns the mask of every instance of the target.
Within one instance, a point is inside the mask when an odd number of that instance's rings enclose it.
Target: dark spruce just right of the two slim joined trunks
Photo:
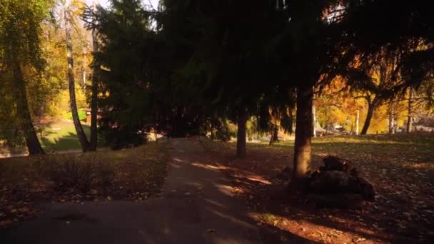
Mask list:
[[[109,146],[123,148],[143,143],[151,130],[170,132],[167,124],[174,117],[182,125],[191,120],[182,106],[172,106],[176,83],[171,83],[171,65],[176,66],[176,54],[184,49],[172,53],[169,43],[163,46],[149,28],[151,13],[140,1],[113,0],[111,4],[110,9],[88,9],[84,19],[100,41],[93,65],[104,67],[96,72],[99,92],[104,94],[97,97],[104,117],[99,130]]]

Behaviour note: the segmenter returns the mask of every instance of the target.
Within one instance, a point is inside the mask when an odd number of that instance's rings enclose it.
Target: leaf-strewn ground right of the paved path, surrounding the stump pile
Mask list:
[[[352,161],[373,183],[375,202],[353,210],[316,208],[288,193],[277,176],[292,168],[293,141],[248,143],[244,159],[234,157],[235,143],[202,143],[263,225],[320,243],[434,240],[433,133],[313,138],[313,170],[334,155]]]

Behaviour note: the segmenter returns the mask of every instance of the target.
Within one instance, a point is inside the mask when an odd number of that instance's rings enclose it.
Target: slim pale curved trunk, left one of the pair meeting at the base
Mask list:
[[[84,134],[83,131],[83,127],[81,127],[79,113],[77,111],[77,103],[76,103],[76,88],[75,88],[75,81],[74,81],[74,58],[73,58],[72,40],[71,40],[71,19],[70,19],[71,13],[69,12],[70,4],[71,1],[67,0],[64,9],[66,51],[67,51],[67,58],[68,58],[69,98],[71,100],[72,120],[74,121],[74,126],[76,128],[76,132],[81,144],[81,148],[83,151],[88,151],[89,141],[87,141],[86,135]]]

